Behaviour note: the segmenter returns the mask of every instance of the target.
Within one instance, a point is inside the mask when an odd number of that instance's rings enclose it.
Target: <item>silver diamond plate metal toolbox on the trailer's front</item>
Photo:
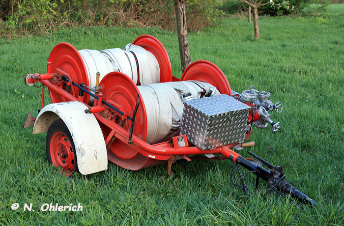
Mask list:
[[[244,141],[250,109],[226,94],[186,101],[180,135],[201,150]]]

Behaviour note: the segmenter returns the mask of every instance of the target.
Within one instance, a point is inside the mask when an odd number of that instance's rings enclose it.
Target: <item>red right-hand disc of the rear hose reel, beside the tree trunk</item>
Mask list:
[[[160,67],[160,83],[172,82],[172,66],[170,57],[163,44],[152,35],[141,35],[133,42],[134,45],[141,46],[149,51],[158,60]]]

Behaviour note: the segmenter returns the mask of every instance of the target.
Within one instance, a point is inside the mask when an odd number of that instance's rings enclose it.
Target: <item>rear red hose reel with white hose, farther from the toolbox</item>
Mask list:
[[[78,51],[71,44],[59,43],[50,53],[47,74],[56,73],[57,77],[67,75],[75,83],[91,88],[95,85],[96,72],[100,72],[100,79],[113,71],[123,72],[142,85],[172,81],[170,58],[158,39],[151,35],[142,35],[125,49]],[[53,79],[54,81],[57,80]],[[76,87],[71,87],[69,93],[78,97]],[[49,94],[53,103],[66,101],[54,90],[49,89]],[[85,103],[88,103],[88,98],[86,95]]]

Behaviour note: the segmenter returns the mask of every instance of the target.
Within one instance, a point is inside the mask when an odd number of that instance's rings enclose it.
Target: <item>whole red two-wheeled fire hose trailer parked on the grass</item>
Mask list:
[[[281,165],[250,151],[255,160],[234,151],[255,145],[244,142],[253,125],[271,124],[277,131],[280,123],[268,112],[280,113],[282,104],[273,104],[270,93],[253,86],[242,93],[231,90],[223,72],[209,61],[193,62],[181,79],[172,76],[170,58],[153,36],[142,35],[124,50],[78,51],[57,44],[47,73],[28,74],[25,82],[41,83],[43,91],[41,110],[37,117],[28,114],[24,128],[47,132],[48,161],[67,175],[105,170],[108,160],[130,170],[167,163],[170,174],[176,160],[229,159],[239,174],[237,178],[234,170],[232,182],[245,191],[239,166],[257,175],[256,187],[261,178],[270,190],[316,204],[287,182]],[[53,102],[47,106],[45,86]]]

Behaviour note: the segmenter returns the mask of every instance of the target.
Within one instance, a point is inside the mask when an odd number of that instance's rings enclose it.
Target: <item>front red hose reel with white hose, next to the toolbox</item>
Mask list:
[[[196,71],[196,76],[191,71]],[[197,74],[197,72],[199,73]],[[201,81],[183,81],[183,78],[188,79],[189,77],[201,79]],[[112,72],[100,82],[100,86],[103,87],[103,99],[107,102],[115,102],[116,106],[120,106],[128,114],[133,113],[136,97],[140,94],[140,105],[136,114],[133,134],[152,144],[166,140],[178,131],[185,98],[198,99],[202,94],[214,96],[231,92],[223,72],[217,69],[215,64],[204,60],[189,65],[180,82],[137,86],[123,73]],[[185,93],[189,94],[185,95]],[[162,105],[161,108],[159,108],[159,104]],[[123,128],[129,130],[130,125],[131,122],[127,120]],[[111,131],[105,125],[101,127],[105,136],[110,134]],[[155,165],[155,163],[160,164],[158,161],[154,163],[148,161],[148,158],[120,140],[113,141],[109,150],[114,154],[115,163],[122,167],[130,165],[134,161],[142,163],[135,169],[142,169],[152,166],[151,164]]]

